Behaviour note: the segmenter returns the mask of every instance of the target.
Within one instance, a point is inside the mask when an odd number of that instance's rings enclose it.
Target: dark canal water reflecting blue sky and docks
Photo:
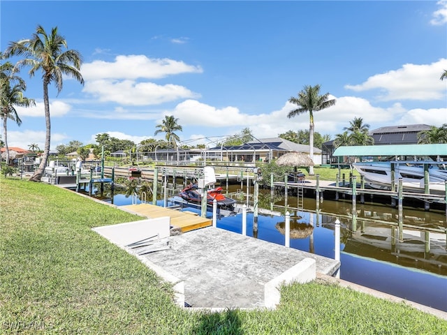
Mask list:
[[[247,214],[249,236],[284,245],[287,206],[291,214],[291,248],[335,258],[338,218],[342,226],[340,278],[447,311],[446,233],[427,232],[447,226],[441,208],[424,211],[404,207],[404,230],[400,236],[397,209],[386,202],[357,204],[358,216],[353,222],[351,200],[324,200],[317,206],[315,199],[304,198],[304,209],[297,210],[293,209],[298,207],[295,197],[276,197],[274,202],[266,202],[270,191],[262,193],[261,207],[273,209],[271,213],[275,215],[259,214],[258,230],[254,231],[253,213]],[[117,194],[113,203],[120,206],[131,204],[132,200]],[[157,204],[163,206],[163,200]],[[218,218],[217,227],[242,233],[242,216]]]

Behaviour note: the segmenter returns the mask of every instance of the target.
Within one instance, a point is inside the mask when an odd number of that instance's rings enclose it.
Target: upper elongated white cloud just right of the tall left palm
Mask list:
[[[120,55],[114,62],[93,61],[82,65],[84,80],[102,79],[156,79],[180,73],[202,73],[200,66],[173,59],[151,59],[145,55]]]

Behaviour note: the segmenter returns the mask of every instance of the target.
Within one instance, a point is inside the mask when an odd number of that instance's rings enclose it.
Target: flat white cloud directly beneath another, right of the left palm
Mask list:
[[[98,97],[101,102],[114,102],[122,105],[157,105],[179,98],[197,98],[186,87],[175,84],[157,85],[152,82],[133,80],[91,80],[85,83],[85,93]]]

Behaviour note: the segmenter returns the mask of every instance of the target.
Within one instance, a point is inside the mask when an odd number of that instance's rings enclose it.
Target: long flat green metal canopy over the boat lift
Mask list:
[[[447,156],[447,144],[400,144],[338,147],[332,156]]]

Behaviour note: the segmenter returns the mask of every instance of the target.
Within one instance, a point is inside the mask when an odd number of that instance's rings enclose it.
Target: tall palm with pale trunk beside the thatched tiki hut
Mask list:
[[[298,92],[298,98],[291,97],[288,100],[290,103],[298,105],[296,110],[288,113],[287,117],[295,117],[296,115],[309,112],[309,156],[314,160],[314,112],[324,110],[332,105],[335,105],[335,99],[329,99],[329,93],[320,95],[320,85],[305,86],[302,91]],[[314,167],[309,168],[309,174],[314,174]]]

